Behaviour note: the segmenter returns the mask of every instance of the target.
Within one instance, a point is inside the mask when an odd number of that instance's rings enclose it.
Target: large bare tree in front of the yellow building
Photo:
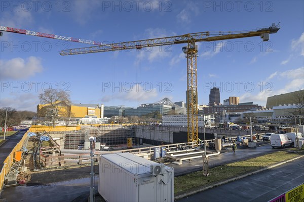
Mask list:
[[[60,110],[63,105],[70,103],[70,96],[63,90],[49,88],[39,95],[41,104],[45,105],[39,111],[39,116],[51,117],[53,127],[55,119],[68,115],[68,110]]]

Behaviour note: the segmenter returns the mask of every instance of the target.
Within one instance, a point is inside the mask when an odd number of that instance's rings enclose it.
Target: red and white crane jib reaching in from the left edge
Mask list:
[[[73,38],[73,37],[68,37],[68,36],[59,36],[59,35],[55,35],[55,34],[46,34],[46,33],[42,33],[42,32],[12,28],[12,27],[0,26],[0,36],[3,35],[3,32],[1,32],[1,31],[13,32],[13,33],[18,33],[18,34],[26,34],[26,35],[32,35],[32,36],[40,36],[40,37],[45,37],[45,38],[53,38],[53,39],[72,41],[72,42],[78,42],[78,43],[87,43],[87,44],[93,44],[93,45],[105,45],[105,46],[107,45],[105,43],[101,43],[98,41],[92,41],[92,40],[81,39],[81,38]]]

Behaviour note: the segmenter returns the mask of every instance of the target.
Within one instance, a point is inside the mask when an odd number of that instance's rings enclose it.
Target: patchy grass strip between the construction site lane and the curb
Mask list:
[[[298,151],[298,149],[295,148],[288,150]],[[286,150],[280,150],[276,153],[211,168],[209,169],[210,175],[208,177],[203,175],[203,171],[178,176],[174,178],[174,195],[183,194],[199,187],[207,187],[213,183],[244,175],[303,154],[304,151],[290,153]]]

